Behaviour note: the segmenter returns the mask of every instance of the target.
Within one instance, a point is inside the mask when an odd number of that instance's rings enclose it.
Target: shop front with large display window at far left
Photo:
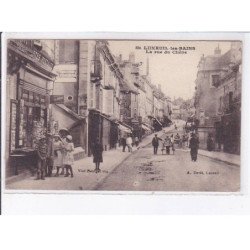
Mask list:
[[[34,173],[37,143],[50,130],[54,64],[39,52],[23,48],[21,42],[8,44],[6,177],[26,170]]]

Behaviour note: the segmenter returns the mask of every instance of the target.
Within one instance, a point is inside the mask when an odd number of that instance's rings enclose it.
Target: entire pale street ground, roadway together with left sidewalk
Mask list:
[[[181,134],[179,129],[168,128],[166,134]],[[165,133],[159,132],[162,138]],[[192,162],[188,148],[176,148],[175,155],[153,154],[151,137],[141,143],[134,152],[122,152],[121,148],[104,154],[101,172],[93,169],[92,157],[78,161],[74,166],[74,178],[51,177],[34,180],[29,177],[7,186],[22,190],[103,190],[103,191],[205,191],[233,192],[240,189],[240,167],[198,155]]]

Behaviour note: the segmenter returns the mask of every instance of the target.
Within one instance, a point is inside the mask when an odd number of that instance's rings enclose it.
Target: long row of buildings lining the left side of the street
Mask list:
[[[152,84],[148,61],[142,74],[133,53],[114,56],[105,40],[7,43],[7,176],[22,161],[34,165],[46,131],[68,129],[81,158],[96,138],[109,150],[124,134],[141,139],[171,122],[171,99]]]

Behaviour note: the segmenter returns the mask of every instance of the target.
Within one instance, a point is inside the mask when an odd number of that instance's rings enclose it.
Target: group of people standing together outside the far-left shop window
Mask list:
[[[50,133],[43,135],[37,144],[36,179],[45,180],[45,177],[51,177],[53,169],[56,169],[55,177],[59,175],[73,177],[73,151],[74,144],[71,135]]]

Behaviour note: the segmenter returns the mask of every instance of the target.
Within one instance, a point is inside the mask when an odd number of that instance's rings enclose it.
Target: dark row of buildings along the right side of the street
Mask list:
[[[240,153],[242,42],[231,43],[221,54],[202,56],[198,65],[195,93],[200,146],[206,148],[210,134],[215,150]]]

